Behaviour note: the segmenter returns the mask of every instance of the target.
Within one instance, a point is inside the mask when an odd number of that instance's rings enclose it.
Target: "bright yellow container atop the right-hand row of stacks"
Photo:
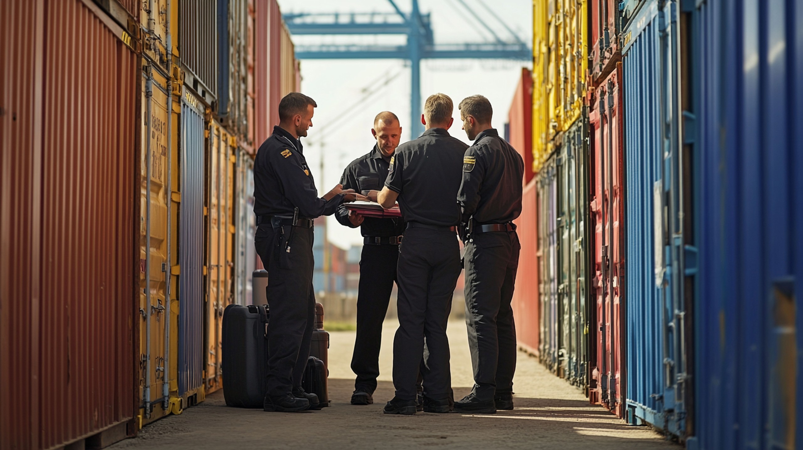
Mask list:
[[[533,170],[581,116],[588,68],[586,0],[533,1]]]

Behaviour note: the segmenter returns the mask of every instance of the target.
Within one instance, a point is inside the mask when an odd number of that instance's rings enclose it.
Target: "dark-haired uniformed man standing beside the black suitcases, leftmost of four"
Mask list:
[[[318,397],[304,392],[315,295],[312,289],[312,219],[332,215],[344,202],[365,199],[337,185],[318,198],[299,140],[312,126],[317,104],[291,92],[279,102],[279,126],[257,151],[254,163],[256,251],[267,269],[268,370],[265,411],[304,411]]]

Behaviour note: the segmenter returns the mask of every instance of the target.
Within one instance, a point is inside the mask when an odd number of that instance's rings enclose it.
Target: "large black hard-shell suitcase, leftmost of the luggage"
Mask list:
[[[267,305],[223,311],[223,398],[230,407],[262,407],[267,374]]]

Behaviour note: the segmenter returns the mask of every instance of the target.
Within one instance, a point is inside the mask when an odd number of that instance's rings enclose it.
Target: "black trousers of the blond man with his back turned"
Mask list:
[[[419,227],[405,231],[397,266],[399,328],[393,339],[398,399],[416,399],[422,358],[423,394],[434,400],[451,395],[446,323],[459,275],[460,247],[453,231]]]

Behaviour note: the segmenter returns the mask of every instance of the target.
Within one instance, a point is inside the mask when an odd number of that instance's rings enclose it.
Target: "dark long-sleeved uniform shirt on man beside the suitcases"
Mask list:
[[[315,219],[332,215],[343,203],[343,194],[328,202],[318,197],[303,150],[301,142],[279,126],[259,146],[254,162],[256,215],[292,217],[298,207],[299,217]]]

